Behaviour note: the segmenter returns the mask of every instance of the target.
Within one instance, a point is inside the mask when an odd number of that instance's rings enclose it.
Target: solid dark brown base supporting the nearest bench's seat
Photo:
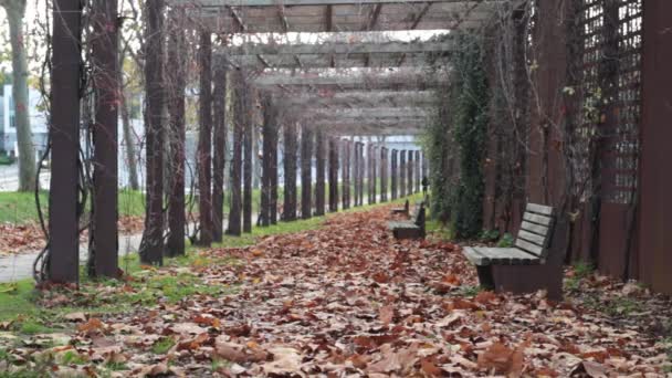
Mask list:
[[[563,300],[561,264],[495,265],[492,276],[497,292],[523,294],[546,290],[549,300]]]

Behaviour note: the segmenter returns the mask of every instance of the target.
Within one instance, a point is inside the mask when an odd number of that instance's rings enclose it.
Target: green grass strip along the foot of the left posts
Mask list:
[[[409,201],[420,199],[421,195],[409,197]],[[401,203],[406,200],[399,199],[395,203]],[[390,203],[390,202],[388,202]],[[369,204],[358,208],[350,208],[346,212],[367,211],[380,204]],[[340,211],[339,213],[342,213]],[[259,238],[302,232],[306,230],[318,229],[324,220],[334,214],[329,213],[324,217],[314,217],[307,220],[297,220],[293,222],[279,222],[266,228],[253,227],[252,233],[243,234],[240,238],[224,235],[223,243],[213,245],[213,248],[241,248],[253,245]],[[190,246],[188,253],[183,256],[165,259],[166,266],[191,266],[202,267],[213,264],[240,264],[241,262],[229,256],[212,256],[211,254],[201,253],[201,250],[196,246]],[[40,307],[39,293],[34,288],[32,280],[22,280],[11,284],[0,285],[0,322],[12,322],[11,330],[20,335],[34,335],[64,329],[63,316],[74,312],[84,312],[88,316],[97,316],[101,314],[124,313],[132,311],[135,306],[154,305],[158,301],[168,303],[178,303],[185,297],[196,294],[206,295],[229,295],[235,293],[235,285],[209,285],[197,275],[189,273],[175,273],[175,270],[166,269],[147,269],[140,265],[137,253],[132,253],[119,259],[119,266],[135,277],[129,282],[120,282],[117,280],[95,280],[86,277],[84,271],[81,276],[82,282],[80,291],[83,295],[72,297],[72,301],[66,306],[56,306],[52,308]],[[84,269],[84,267],[82,267]],[[97,288],[101,286],[122,286],[130,285],[134,291],[116,291],[113,293],[98,294]],[[52,288],[50,295],[59,295],[60,288]],[[71,292],[64,292],[63,295],[69,295]],[[65,327],[71,327],[66,325]],[[168,348],[167,344],[159,349]],[[160,350],[159,350],[160,351]],[[0,375],[0,378],[2,376]]]

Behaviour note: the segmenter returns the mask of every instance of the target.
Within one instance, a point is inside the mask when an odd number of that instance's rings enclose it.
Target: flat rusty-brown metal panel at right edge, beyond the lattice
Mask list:
[[[639,273],[672,294],[672,1],[643,4]]]

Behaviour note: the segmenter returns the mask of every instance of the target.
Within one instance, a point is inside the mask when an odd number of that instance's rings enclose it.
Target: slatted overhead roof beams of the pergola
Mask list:
[[[430,112],[391,108],[431,106],[429,91],[445,78],[424,69],[455,48],[451,32],[481,28],[505,2],[168,1],[197,28],[234,35],[214,49],[218,61],[253,71],[253,86],[281,92],[306,117],[325,115],[316,126],[349,136],[417,134]],[[332,112],[339,107],[349,111]]]

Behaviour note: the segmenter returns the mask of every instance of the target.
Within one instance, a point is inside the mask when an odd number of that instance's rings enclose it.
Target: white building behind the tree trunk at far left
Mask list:
[[[42,95],[39,91],[29,90],[29,115],[36,158],[46,149],[46,114],[40,109]],[[17,122],[14,117],[14,98],[12,86],[4,85],[0,96],[0,153],[19,156],[17,143]]]

